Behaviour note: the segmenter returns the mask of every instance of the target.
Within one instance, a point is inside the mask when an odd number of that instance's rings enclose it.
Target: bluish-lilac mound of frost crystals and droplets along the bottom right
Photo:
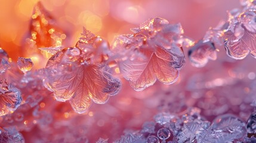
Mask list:
[[[194,111],[192,111],[194,110]],[[181,117],[169,113],[168,122],[155,122],[155,132],[145,129],[152,128],[152,124],[144,124],[139,131],[124,135],[116,142],[233,142],[245,141],[245,122],[232,114],[218,116],[212,123],[203,120],[196,108],[190,108],[189,112]],[[160,116],[158,114],[158,116]],[[163,117],[164,118],[164,117]],[[190,119],[190,120],[187,120]],[[141,132],[143,131],[143,132]],[[136,140],[132,139],[136,138]],[[144,140],[146,138],[146,140]]]

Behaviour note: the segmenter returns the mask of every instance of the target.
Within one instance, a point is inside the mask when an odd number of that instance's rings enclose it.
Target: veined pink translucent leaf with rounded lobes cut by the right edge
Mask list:
[[[236,33],[228,33],[229,38],[224,42],[227,55],[235,59],[243,59],[248,54],[256,58],[256,35],[244,30],[241,38]]]

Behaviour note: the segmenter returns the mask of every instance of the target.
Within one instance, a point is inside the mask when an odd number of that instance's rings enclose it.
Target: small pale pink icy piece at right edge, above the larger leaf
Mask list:
[[[249,32],[256,33],[256,14],[254,11],[246,11],[240,14],[240,22],[245,26]]]

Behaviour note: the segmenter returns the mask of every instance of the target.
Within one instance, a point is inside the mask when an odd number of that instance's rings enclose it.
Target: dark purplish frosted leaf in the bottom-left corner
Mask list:
[[[2,143],[24,143],[24,138],[15,128],[0,128],[0,142]]]

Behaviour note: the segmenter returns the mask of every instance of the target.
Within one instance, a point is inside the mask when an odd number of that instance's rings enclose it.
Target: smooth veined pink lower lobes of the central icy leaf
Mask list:
[[[156,51],[141,49],[140,52],[146,58],[137,58],[121,67],[125,79],[136,91],[153,85],[156,79],[168,85],[178,79],[179,71],[175,67],[180,67],[180,63],[175,62],[171,51],[157,48]]]

